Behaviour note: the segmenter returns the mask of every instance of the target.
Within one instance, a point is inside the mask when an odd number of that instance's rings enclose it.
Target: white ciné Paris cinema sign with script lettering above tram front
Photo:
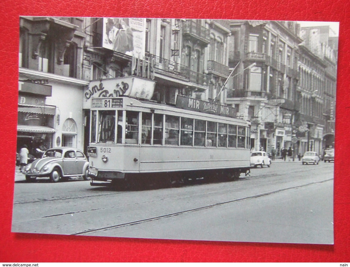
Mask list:
[[[151,99],[155,82],[136,76],[93,80],[84,92],[84,108],[90,108],[90,98],[130,96]]]

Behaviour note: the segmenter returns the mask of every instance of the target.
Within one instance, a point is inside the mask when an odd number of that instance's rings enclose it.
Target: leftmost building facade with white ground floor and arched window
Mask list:
[[[83,148],[83,19],[20,17],[17,150]]]

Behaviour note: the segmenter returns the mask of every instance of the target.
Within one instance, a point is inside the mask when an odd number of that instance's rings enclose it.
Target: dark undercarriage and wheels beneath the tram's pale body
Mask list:
[[[185,184],[197,182],[233,181],[240,174],[249,175],[250,167],[196,170],[196,171],[169,171],[159,173],[101,173],[99,177],[91,177],[92,186],[110,186],[114,188],[146,188],[149,185],[156,187],[181,187]],[[102,182],[102,183],[96,183]]]

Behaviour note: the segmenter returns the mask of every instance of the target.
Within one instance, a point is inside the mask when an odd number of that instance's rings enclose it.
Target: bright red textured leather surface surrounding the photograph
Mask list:
[[[0,261],[350,260],[350,3],[348,0],[2,0],[0,24]],[[96,238],[11,233],[18,98],[19,15],[340,21],[334,245]]]

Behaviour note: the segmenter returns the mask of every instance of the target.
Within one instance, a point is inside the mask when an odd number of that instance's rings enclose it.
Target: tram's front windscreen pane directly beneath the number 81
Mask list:
[[[99,142],[113,143],[116,128],[116,111],[100,111]]]

